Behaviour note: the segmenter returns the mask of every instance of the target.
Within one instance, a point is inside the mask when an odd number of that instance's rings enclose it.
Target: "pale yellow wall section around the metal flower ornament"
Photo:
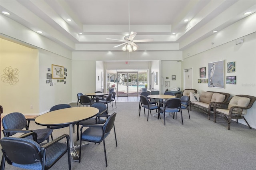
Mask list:
[[[0,39],[0,75],[6,67],[18,69],[16,84],[1,79],[0,99],[4,114],[20,112],[36,115],[39,112],[38,50]],[[30,108],[33,105],[33,108]]]

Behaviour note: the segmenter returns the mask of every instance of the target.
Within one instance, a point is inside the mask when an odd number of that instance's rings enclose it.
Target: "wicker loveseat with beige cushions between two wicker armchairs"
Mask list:
[[[213,111],[215,102],[226,102],[230,97],[229,93],[206,91],[202,92],[199,96],[199,101],[192,101],[190,96],[190,110],[194,107],[206,114],[208,114],[208,120],[210,120],[211,111]]]

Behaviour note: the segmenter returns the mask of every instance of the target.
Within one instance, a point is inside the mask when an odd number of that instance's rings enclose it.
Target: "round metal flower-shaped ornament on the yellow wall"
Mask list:
[[[19,79],[19,75],[18,73],[20,73],[20,71],[18,69],[12,69],[12,67],[6,67],[4,69],[4,74],[1,75],[1,79],[4,83],[9,83],[10,85],[14,85],[16,84]]]

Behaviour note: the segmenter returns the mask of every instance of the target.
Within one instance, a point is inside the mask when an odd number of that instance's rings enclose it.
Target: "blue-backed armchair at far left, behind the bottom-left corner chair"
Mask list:
[[[9,113],[4,116],[2,119],[3,133],[4,136],[12,136],[18,132],[28,133],[28,132],[36,132],[37,138],[36,142],[41,143],[47,139],[49,142],[49,136],[52,134],[52,129],[50,128],[42,128],[36,130],[28,130],[27,121],[25,116],[22,113],[14,112]],[[26,128],[26,129],[24,129]],[[28,136],[27,138],[33,139],[32,136]]]

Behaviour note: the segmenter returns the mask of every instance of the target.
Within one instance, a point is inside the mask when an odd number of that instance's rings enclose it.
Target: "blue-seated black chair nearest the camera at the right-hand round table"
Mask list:
[[[166,112],[174,113],[173,114],[173,119],[174,119],[175,113],[177,114],[177,112],[179,112],[179,111],[180,111],[181,121],[182,121],[182,125],[183,125],[182,109],[178,109],[178,108],[180,108],[180,99],[179,98],[170,98],[170,99],[167,99],[166,102],[163,104],[164,104],[164,107],[160,107],[160,110],[164,112],[164,125],[165,125],[165,113]]]

